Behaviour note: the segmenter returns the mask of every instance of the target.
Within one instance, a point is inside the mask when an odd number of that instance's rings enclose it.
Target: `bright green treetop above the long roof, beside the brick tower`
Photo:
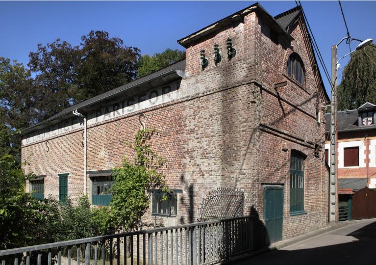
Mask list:
[[[178,60],[185,58],[185,52],[170,48],[162,53],[142,55],[139,61],[138,77],[144,77]]]

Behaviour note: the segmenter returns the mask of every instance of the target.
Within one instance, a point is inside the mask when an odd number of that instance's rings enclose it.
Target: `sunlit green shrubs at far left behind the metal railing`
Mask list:
[[[53,241],[58,204],[26,193],[28,177],[12,155],[0,157],[0,249]]]

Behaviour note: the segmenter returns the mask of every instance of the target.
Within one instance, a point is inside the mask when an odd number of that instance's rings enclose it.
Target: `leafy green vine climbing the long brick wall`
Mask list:
[[[100,233],[137,229],[141,225],[141,217],[149,208],[152,191],[160,188],[170,192],[164,175],[159,172],[165,161],[148,143],[154,133],[152,129],[140,130],[134,143],[129,145],[135,153],[134,161],[124,158],[123,167],[113,169],[110,206],[96,212],[95,220],[101,227]]]

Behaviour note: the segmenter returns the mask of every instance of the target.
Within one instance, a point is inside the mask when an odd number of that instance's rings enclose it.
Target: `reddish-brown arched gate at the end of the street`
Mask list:
[[[352,195],[352,219],[376,218],[376,191],[364,187]]]

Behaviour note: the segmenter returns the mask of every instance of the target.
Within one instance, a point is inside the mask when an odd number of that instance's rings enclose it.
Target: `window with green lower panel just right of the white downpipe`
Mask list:
[[[93,182],[93,205],[108,206],[112,199],[110,188],[114,184],[113,176],[92,177]]]

